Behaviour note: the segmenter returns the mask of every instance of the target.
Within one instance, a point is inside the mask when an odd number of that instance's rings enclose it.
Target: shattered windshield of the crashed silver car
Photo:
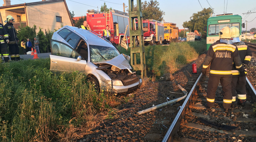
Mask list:
[[[89,45],[90,61],[92,63],[106,61],[120,55],[115,47]]]

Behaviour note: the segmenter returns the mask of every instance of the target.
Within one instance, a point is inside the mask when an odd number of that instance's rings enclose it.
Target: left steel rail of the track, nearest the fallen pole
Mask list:
[[[175,133],[178,132],[181,124],[181,119],[184,118],[186,109],[189,107],[189,100],[192,97],[192,93],[195,93],[196,87],[199,85],[199,82],[201,81],[203,77],[203,74],[201,73],[196,80],[195,84],[191,88],[191,91],[189,92],[188,96],[186,97],[184,103],[182,104],[181,108],[179,109],[178,114],[174,118],[170,128],[168,129],[166,135],[164,136],[162,142],[172,142],[173,141],[173,136]]]

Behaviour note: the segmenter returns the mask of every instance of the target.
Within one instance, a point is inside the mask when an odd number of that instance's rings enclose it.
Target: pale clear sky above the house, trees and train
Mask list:
[[[40,0],[11,0],[11,5],[37,2]],[[144,2],[145,0],[141,0]],[[147,0],[150,1],[150,0]],[[165,22],[176,23],[179,29],[182,29],[182,24],[185,21],[190,21],[190,17],[193,13],[202,11],[203,8],[213,8],[214,15],[233,13],[242,16],[242,23],[247,21],[247,31],[251,28],[256,28],[256,0],[157,0],[159,2],[159,8],[165,15],[163,19]],[[107,8],[112,8],[119,11],[124,11],[123,3],[125,6],[129,6],[129,0],[66,0],[68,10],[74,11],[75,17],[85,16],[88,9],[94,9],[100,11],[100,7],[104,4]],[[137,3],[136,0],[134,2]],[[0,0],[2,6],[3,0]],[[127,8],[125,11],[127,12]],[[255,12],[255,13],[247,13]],[[246,14],[243,14],[246,13]],[[142,17],[143,18],[143,17]]]

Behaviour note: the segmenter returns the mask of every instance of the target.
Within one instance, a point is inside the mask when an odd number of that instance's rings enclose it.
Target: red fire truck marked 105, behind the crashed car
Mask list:
[[[121,39],[125,36],[126,25],[129,26],[129,15],[128,13],[121,12],[118,10],[109,10],[108,12],[98,12],[95,10],[87,10],[86,21],[89,24],[91,30],[101,36],[106,26],[109,26],[111,37],[110,42],[120,44]],[[129,40],[129,27],[126,32],[126,36]]]

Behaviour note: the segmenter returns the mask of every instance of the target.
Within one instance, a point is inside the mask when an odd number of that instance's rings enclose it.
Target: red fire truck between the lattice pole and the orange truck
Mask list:
[[[142,20],[144,44],[162,44],[164,40],[164,25],[157,20]],[[136,28],[138,23],[136,22]]]

